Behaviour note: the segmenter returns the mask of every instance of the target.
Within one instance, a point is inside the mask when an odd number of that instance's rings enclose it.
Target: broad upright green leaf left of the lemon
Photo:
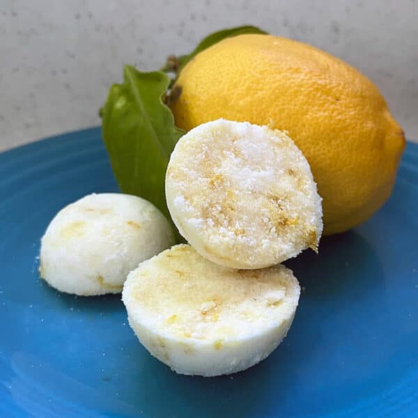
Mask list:
[[[171,151],[185,133],[162,102],[170,79],[126,65],[101,109],[102,137],[123,193],[141,196],[170,219],[164,193]]]

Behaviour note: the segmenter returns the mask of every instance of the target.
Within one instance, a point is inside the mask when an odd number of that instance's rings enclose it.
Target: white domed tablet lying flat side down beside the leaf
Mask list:
[[[150,202],[127,194],[90,194],[52,219],[40,247],[40,277],[76,295],[119,293],[130,270],[175,242]]]

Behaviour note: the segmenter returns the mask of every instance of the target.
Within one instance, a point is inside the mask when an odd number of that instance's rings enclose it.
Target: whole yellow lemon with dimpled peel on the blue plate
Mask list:
[[[218,118],[286,130],[318,183],[326,234],[364,222],[385,203],[405,147],[369,79],[320,49],[277,36],[235,36],[196,55],[169,106],[185,130]]]

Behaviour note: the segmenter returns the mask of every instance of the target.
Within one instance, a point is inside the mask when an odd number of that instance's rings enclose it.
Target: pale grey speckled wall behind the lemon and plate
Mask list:
[[[254,24],[309,42],[375,82],[418,141],[417,1],[2,0],[0,150],[98,125],[125,63],[160,68],[211,31]]]

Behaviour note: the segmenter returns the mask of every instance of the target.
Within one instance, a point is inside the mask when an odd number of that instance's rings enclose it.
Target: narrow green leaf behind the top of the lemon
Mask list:
[[[222,31],[217,31],[209,36],[206,36],[199,45],[194,49],[193,52],[191,52],[189,55],[181,55],[181,56],[169,56],[167,59],[167,63],[162,68],[162,71],[165,72],[175,72],[176,74],[180,74],[180,71],[183,69],[183,67],[194,58],[199,52],[202,52],[204,49],[207,49],[208,47],[211,47],[212,45],[215,45],[215,43],[225,39],[225,38],[231,38],[232,36],[238,36],[238,35],[245,35],[247,33],[256,33],[265,35],[267,32],[258,29],[256,26],[238,26],[236,28],[231,29],[223,29]]]

